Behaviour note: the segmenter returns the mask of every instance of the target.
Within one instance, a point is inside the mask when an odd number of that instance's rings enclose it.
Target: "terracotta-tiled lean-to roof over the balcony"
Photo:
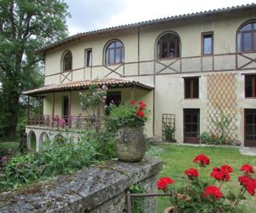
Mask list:
[[[109,88],[138,86],[144,89],[154,89],[154,86],[152,85],[141,83],[133,79],[102,78],[102,79],[75,81],[75,82],[69,82],[69,83],[50,84],[37,89],[25,91],[22,93],[22,95],[37,95],[37,94],[54,92],[54,91],[87,89],[90,85],[99,85],[99,86],[107,85]]]

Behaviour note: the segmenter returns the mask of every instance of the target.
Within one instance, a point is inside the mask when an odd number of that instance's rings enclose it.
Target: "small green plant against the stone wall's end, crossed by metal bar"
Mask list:
[[[145,193],[144,189],[139,184],[133,184],[129,187],[131,193]],[[143,198],[135,197],[131,199],[131,212],[143,213]]]

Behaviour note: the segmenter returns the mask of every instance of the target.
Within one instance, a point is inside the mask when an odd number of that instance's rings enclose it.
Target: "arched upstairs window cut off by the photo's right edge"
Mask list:
[[[241,26],[237,32],[237,52],[256,51],[256,21]]]

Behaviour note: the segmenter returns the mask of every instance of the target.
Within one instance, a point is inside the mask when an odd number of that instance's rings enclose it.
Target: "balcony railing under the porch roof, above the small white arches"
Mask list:
[[[78,129],[78,130],[101,130],[105,124],[106,118],[89,116],[29,116],[27,124],[58,129]]]

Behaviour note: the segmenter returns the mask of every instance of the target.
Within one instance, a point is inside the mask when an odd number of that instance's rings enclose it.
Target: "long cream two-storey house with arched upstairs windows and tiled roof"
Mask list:
[[[44,55],[44,87],[24,95],[44,103],[26,126],[38,149],[55,114],[79,127],[79,92],[90,84],[108,85],[108,100],[145,101],[148,137],[161,138],[170,124],[177,142],[199,143],[207,131],[256,147],[254,3],[79,33],[36,52]]]

